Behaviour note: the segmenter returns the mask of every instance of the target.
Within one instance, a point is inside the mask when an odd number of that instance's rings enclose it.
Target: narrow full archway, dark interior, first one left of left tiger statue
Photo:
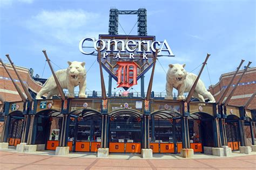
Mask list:
[[[8,133],[8,143],[9,146],[17,146],[21,143],[24,128],[24,115],[21,111],[13,111],[8,116],[10,116],[11,119]]]

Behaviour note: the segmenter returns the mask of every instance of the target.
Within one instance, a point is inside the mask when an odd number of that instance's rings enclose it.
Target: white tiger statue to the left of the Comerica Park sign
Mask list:
[[[68,97],[75,97],[74,88],[79,85],[80,98],[87,97],[85,95],[86,88],[86,70],[84,68],[85,62],[68,61],[69,67],[55,72],[58,77],[62,89],[68,89]],[[59,91],[53,75],[44,83],[43,88],[38,92],[36,98],[41,98],[44,94],[48,93],[47,99],[58,95]]]

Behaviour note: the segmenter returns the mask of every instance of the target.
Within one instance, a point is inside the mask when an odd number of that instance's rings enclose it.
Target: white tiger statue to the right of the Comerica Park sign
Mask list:
[[[197,79],[197,75],[193,73],[187,73],[184,69],[184,65],[173,64],[169,65],[169,69],[166,75],[166,97],[165,99],[173,100],[172,90],[176,88],[178,90],[177,100],[185,100],[184,93],[190,91],[194,81]],[[197,86],[192,95],[199,99],[200,102],[205,102],[204,98],[208,98],[210,103],[215,103],[215,99],[212,94],[207,91],[203,81],[198,80]]]

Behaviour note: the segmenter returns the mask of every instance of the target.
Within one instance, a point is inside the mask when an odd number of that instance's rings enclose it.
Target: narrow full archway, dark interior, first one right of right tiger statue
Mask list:
[[[231,150],[239,150],[241,146],[241,136],[239,133],[239,120],[236,115],[228,115],[225,120],[227,145],[231,147]]]

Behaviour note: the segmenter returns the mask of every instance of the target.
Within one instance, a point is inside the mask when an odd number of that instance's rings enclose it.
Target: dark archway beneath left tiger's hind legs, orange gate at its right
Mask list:
[[[38,112],[35,116],[35,144],[46,150],[56,150],[59,146],[62,121],[63,114],[57,110],[47,109]]]

